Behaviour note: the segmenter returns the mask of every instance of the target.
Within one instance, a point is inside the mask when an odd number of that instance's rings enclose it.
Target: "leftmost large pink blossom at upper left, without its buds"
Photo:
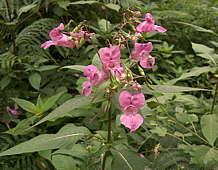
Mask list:
[[[61,30],[64,30],[64,24],[62,23],[57,28],[51,30],[51,32],[49,33],[51,40],[43,43],[41,47],[44,49],[50,47],[51,45],[68,47],[68,48],[74,47],[73,41],[69,40],[69,36],[61,33],[60,32]]]

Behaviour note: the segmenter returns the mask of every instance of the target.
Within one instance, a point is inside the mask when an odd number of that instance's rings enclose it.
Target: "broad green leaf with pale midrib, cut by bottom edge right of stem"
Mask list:
[[[113,151],[112,169],[145,170],[148,165],[144,158],[132,151]]]

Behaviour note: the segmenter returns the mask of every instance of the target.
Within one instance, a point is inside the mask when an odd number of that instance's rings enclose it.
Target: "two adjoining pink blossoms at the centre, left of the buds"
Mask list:
[[[99,85],[100,83],[107,81],[109,75],[122,78],[124,69],[120,63],[120,47],[111,46],[109,48],[101,48],[99,50],[100,59],[102,62],[103,72],[99,72],[98,68],[94,65],[88,65],[83,75],[87,77],[87,81],[83,83],[83,95],[89,96],[92,91],[92,87]]]

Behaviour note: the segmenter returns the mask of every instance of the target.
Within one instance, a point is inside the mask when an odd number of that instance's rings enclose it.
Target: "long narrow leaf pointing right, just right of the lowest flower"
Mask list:
[[[183,86],[171,86],[171,85],[153,85],[151,86],[151,88],[148,88],[147,86],[142,86],[142,90],[146,94],[181,93],[181,92],[189,92],[189,91],[209,91],[207,89],[183,87]]]

